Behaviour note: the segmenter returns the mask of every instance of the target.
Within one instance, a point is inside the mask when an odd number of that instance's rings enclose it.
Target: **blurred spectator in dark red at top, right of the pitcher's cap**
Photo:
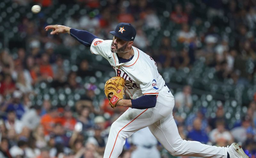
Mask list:
[[[180,4],[175,5],[175,11],[171,13],[170,18],[177,24],[188,22],[188,15],[182,11],[182,6]]]

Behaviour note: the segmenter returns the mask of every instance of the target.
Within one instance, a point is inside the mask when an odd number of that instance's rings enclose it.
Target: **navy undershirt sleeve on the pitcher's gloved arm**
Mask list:
[[[156,95],[144,95],[137,99],[132,99],[132,108],[148,109],[156,106]]]

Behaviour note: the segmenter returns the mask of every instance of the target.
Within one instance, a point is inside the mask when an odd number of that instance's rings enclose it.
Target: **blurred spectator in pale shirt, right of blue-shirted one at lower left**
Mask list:
[[[27,111],[21,118],[23,126],[28,127],[30,130],[35,130],[41,120],[40,113],[41,107],[37,105]]]

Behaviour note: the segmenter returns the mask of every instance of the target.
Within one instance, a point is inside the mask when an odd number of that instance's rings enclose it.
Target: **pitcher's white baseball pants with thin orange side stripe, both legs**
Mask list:
[[[172,116],[174,97],[168,91],[167,86],[159,91],[156,107],[143,110],[129,108],[111,125],[104,158],[117,158],[123,150],[125,138],[147,126],[174,156],[227,158],[226,147],[204,145],[180,137]]]

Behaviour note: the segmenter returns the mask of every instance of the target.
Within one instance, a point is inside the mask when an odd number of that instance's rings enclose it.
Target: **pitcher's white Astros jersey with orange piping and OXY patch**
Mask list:
[[[112,40],[94,39],[91,45],[92,54],[101,55],[115,69],[116,76],[125,80],[125,90],[131,99],[143,95],[158,95],[164,86],[163,77],[158,73],[156,62],[146,53],[132,46],[134,56],[126,63],[118,61],[116,53],[111,52]]]

